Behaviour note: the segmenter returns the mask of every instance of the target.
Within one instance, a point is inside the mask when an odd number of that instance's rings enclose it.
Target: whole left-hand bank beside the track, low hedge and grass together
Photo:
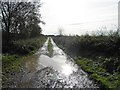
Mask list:
[[[3,84],[11,79],[11,75],[19,72],[25,60],[34,54],[45,42],[45,37],[14,41],[9,53],[2,55]]]

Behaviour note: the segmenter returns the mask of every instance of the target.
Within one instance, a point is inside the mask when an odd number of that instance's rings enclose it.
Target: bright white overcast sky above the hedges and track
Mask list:
[[[40,13],[46,23],[43,34],[82,35],[92,31],[115,30],[119,0],[41,0]]]

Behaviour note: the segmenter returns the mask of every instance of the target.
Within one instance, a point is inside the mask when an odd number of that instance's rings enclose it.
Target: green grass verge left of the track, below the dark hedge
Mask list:
[[[11,74],[17,73],[22,67],[22,62],[24,62],[27,56],[19,55],[3,55],[2,56],[2,81],[8,81]]]

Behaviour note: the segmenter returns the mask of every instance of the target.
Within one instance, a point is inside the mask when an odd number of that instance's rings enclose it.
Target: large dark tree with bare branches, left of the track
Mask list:
[[[4,41],[41,34],[40,2],[0,2],[0,22]]]

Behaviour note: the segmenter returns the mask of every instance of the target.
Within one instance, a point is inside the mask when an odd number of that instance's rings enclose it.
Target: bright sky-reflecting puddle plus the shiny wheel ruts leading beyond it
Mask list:
[[[39,65],[43,65],[44,67],[52,67],[54,70],[66,76],[69,76],[70,74],[72,74],[74,70],[76,70],[75,67],[73,66],[74,64],[67,60],[67,55],[60,48],[57,47],[57,45],[54,43],[52,39],[51,43],[53,44],[53,57],[50,58],[46,55],[46,52],[48,52],[47,51],[48,39],[47,39],[47,41],[41,48],[42,55],[40,55],[38,60]],[[38,67],[38,69],[40,68]]]

